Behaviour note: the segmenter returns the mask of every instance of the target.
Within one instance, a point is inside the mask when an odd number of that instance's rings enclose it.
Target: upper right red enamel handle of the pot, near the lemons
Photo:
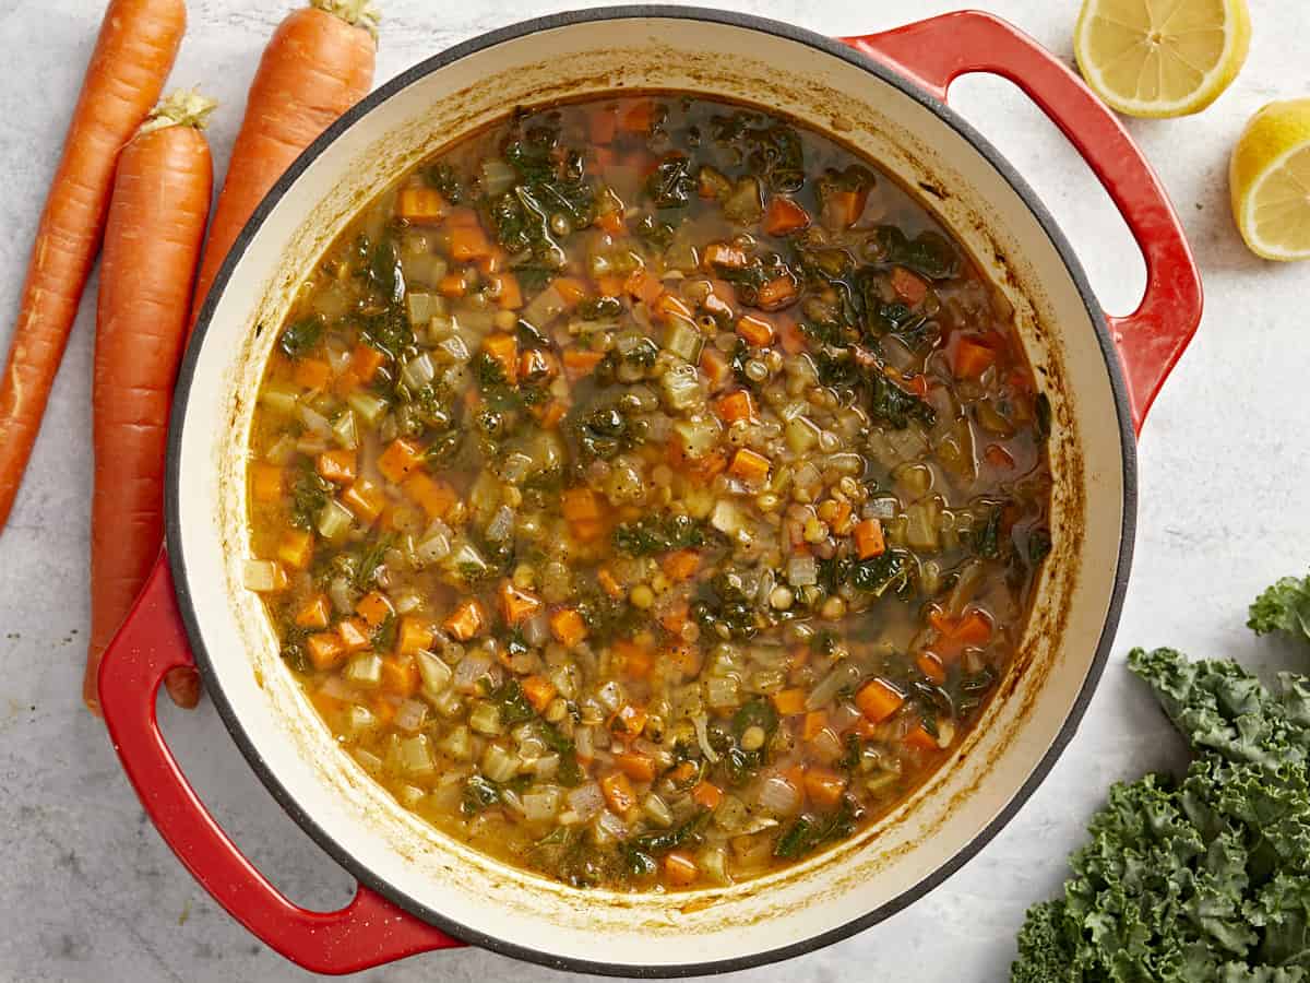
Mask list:
[[[1183,227],[1150,164],[1119,118],[1068,66],[1006,21],[960,10],[882,34],[842,38],[946,102],[962,75],[988,72],[1018,85],[1078,149],[1110,193],[1146,260],[1146,294],[1127,317],[1108,317],[1128,381],[1133,426],[1201,320],[1201,278]]]

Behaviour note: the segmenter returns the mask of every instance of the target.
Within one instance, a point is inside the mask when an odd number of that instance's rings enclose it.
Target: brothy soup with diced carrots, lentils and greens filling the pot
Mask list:
[[[679,94],[381,194],[262,384],[246,586],[407,809],[575,886],[727,885],[895,806],[1051,547],[1013,312],[900,187]]]

